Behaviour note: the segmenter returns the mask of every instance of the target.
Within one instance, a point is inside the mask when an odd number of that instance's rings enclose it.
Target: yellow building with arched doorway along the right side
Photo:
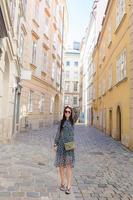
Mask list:
[[[129,0],[108,1],[93,53],[96,72],[92,104],[94,126],[129,148],[133,146],[130,6]]]

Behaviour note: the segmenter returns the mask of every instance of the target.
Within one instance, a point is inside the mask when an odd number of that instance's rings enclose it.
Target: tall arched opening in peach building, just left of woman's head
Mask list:
[[[59,114],[60,114],[59,95],[56,94],[54,99],[54,123],[57,123],[59,121]]]

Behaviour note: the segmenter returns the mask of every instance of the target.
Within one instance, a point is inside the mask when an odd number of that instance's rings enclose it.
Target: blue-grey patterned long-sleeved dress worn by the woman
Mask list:
[[[63,124],[63,129],[61,133],[59,124],[58,131],[54,140],[54,143],[57,145],[56,158],[54,163],[56,167],[66,167],[67,165],[71,165],[71,167],[74,167],[74,150],[66,151],[64,147],[64,142],[69,142],[72,140],[74,140],[74,127],[69,120],[66,120]]]

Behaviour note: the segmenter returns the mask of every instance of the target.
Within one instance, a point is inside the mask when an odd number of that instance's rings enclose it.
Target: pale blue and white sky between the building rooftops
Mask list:
[[[81,42],[92,10],[93,0],[67,0],[69,15],[68,45],[73,41]]]

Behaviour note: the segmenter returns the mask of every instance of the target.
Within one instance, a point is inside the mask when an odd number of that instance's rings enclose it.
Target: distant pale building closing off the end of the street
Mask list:
[[[64,53],[64,106],[79,109],[80,50],[76,43]]]

